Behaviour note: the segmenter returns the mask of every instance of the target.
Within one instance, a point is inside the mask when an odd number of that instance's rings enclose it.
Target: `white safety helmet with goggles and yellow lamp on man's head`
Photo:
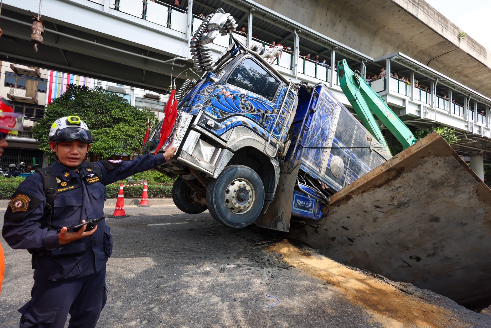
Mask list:
[[[87,124],[78,116],[64,116],[55,120],[50,129],[50,141],[59,143],[72,142],[74,140],[80,140],[86,144],[94,142]]]

